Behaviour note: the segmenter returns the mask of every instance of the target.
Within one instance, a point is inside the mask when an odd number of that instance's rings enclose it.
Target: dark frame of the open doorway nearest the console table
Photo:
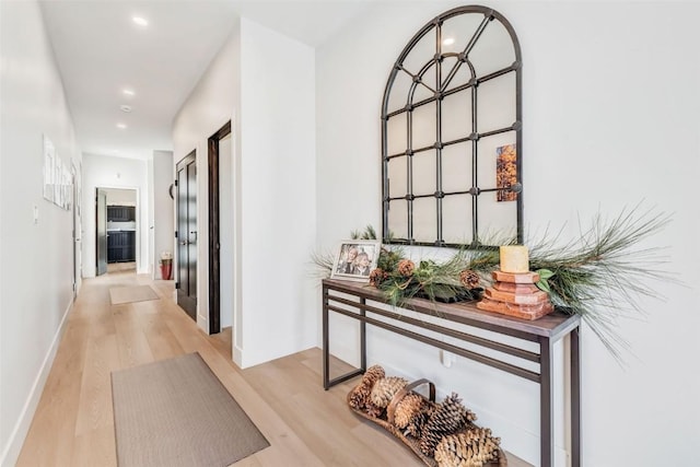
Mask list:
[[[221,332],[221,231],[219,141],[231,135],[231,120],[209,137],[209,334]]]

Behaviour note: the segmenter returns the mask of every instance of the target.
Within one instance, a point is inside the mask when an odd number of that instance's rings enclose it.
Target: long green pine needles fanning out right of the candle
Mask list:
[[[528,242],[530,269],[551,273],[538,287],[555,306],[580,315],[618,362],[629,350],[616,329],[618,319],[643,316],[639,297],[658,299],[652,284],[675,281],[663,270],[663,247],[639,248],[670,222],[670,215],[638,211],[639,206],[623,210],[611,221],[598,213],[587,230],[580,227],[579,238],[562,246],[557,246],[559,234]]]

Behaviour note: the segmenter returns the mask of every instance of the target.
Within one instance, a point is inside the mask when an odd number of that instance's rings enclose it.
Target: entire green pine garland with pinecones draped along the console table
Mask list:
[[[660,299],[656,282],[679,282],[663,269],[668,262],[664,248],[644,246],[669,222],[670,215],[642,211],[638,205],[609,221],[598,213],[588,227],[580,226],[579,236],[570,242],[561,242],[561,232],[550,235],[547,231],[524,242],[529,248],[530,270],[541,277],[537,285],[549,294],[557,308],[581,316],[620,363],[629,345],[617,329],[618,320],[643,316],[639,299]],[[353,236],[375,238],[376,232],[368,225]],[[494,237],[481,240],[480,245],[512,243]],[[416,296],[447,302],[474,300],[480,297],[481,291],[476,285],[490,282],[499,259],[497,248],[482,247],[459,249],[444,262],[427,259],[415,264],[402,248],[383,247],[371,282],[395,306]],[[313,260],[322,269],[332,267],[328,256],[319,255]]]

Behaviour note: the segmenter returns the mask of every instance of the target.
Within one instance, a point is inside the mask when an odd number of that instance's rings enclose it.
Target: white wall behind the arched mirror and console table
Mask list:
[[[584,221],[598,210],[611,217],[641,200],[674,213],[663,235],[643,246],[668,246],[667,269],[688,287],[658,284],[665,302],[643,299],[646,318],[619,322],[632,348],[627,367],[583,329],[584,465],[700,464],[700,220],[691,205],[700,168],[700,4],[485,3],[511,21],[523,49],[526,226],[557,230],[568,223],[564,236],[573,237],[579,214]],[[319,248],[366,223],[381,225],[384,85],[415,32],[454,5],[381,4],[317,50]],[[337,183],[360,176],[369,180],[363,190],[350,192]],[[336,350],[352,360],[353,325],[336,326]],[[503,436],[506,450],[538,465],[536,385],[463,359],[443,369],[436,350],[388,332],[370,332],[368,346],[371,363],[459,393],[480,422]],[[557,402],[557,466],[563,466]]]

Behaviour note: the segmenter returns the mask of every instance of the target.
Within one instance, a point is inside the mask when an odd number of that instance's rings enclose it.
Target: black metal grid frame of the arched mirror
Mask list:
[[[469,42],[467,43],[467,45],[465,46],[465,48],[460,51],[460,52],[444,52],[443,54],[443,43],[442,43],[442,36],[443,36],[443,25],[444,22],[453,16],[457,16],[460,14],[467,14],[467,13],[472,13],[472,14],[482,14],[483,17],[481,19],[479,25],[477,26],[476,31],[474,32],[474,34],[471,35],[471,37],[469,38]],[[500,68],[495,71],[492,71],[490,73],[483,74],[482,77],[478,77],[477,71],[472,65],[472,62],[470,61],[469,58],[469,54],[472,51],[472,49],[475,48],[475,46],[477,45],[477,43],[479,42],[479,39],[482,37],[483,33],[487,31],[487,26],[489,25],[489,23],[491,23],[493,20],[498,19],[499,22],[501,23],[501,25],[506,30],[508,34],[510,35],[510,38],[512,39],[513,43],[513,47],[514,47],[514,52],[515,52],[515,61],[508,67],[504,68]],[[409,54],[413,50],[413,48],[421,42],[421,39],[423,39],[423,37],[425,37],[431,30],[434,28],[434,37],[435,37],[435,55],[433,57],[431,57],[423,66],[422,68],[416,72],[416,74],[413,74],[410,70],[408,70],[407,68],[405,68],[404,66],[404,60],[409,56]],[[445,58],[447,57],[455,57],[456,61],[454,62],[454,65],[452,65],[452,67],[450,69],[445,69],[443,70],[443,61]],[[500,15],[499,13],[494,12],[493,10],[490,10],[488,8],[485,7],[462,7],[462,8],[456,8],[453,9],[446,13],[444,13],[443,15],[440,15],[438,17],[435,17],[433,21],[431,21],[430,23],[425,24],[425,26],[423,26],[423,28],[421,28],[412,38],[411,40],[408,43],[408,45],[405,47],[405,49],[402,50],[401,55],[399,56],[399,58],[397,59],[396,63],[394,65],[394,68],[389,74],[389,80],[387,82],[387,85],[385,87],[384,91],[384,101],[383,101],[383,113],[382,113],[382,157],[383,157],[383,206],[384,206],[384,212],[383,212],[383,241],[385,243],[402,243],[402,244],[409,244],[409,245],[423,245],[423,246],[453,246],[453,247],[462,247],[465,246],[464,244],[455,244],[452,242],[446,242],[444,238],[445,232],[444,232],[444,212],[443,212],[443,208],[444,208],[444,198],[447,196],[470,196],[471,198],[471,242],[470,244],[468,244],[469,247],[494,247],[493,245],[485,245],[482,244],[482,240],[480,238],[479,235],[479,196],[487,194],[487,192],[494,192],[494,191],[501,191],[501,190],[505,190],[509,188],[480,188],[479,184],[485,182],[485,180],[480,180],[479,179],[479,140],[488,138],[488,137],[492,137],[492,136],[497,136],[497,135],[501,135],[508,131],[514,131],[515,132],[515,144],[516,144],[516,151],[517,151],[517,157],[515,160],[515,164],[516,164],[516,185],[517,185],[517,205],[516,205],[516,241],[518,243],[522,243],[523,241],[523,234],[522,234],[522,219],[523,219],[523,202],[522,202],[522,149],[523,149],[523,144],[522,144],[522,95],[521,95],[521,86],[522,86],[522,75],[521,75],[521,70],[522,70],[522,66],[521,66],[521,52],[520,52],[520,44],[517,42],[517,38],[515,37],[515,33],[512,28],[512,26],[510,25],[510,23],[508,23],[508,21]],[[428,72],[428,70],[430,69],[431,66],[435,67],[434,70],[434,74],[435,74],[435,89],[431,89],[431,86],[429,86],[424,81],[423,78],[425,75],[425,73]],[[448,89],[450,84],[452,83],[453,79],[457,75],[457,73],[459,72],[459,69],[462,67],[468,67],[469,71],[468,71],[468,75],[470,77],[469,81],[464,83],[464,84],[458,84],[455,87]],[[398,109],[389,109],[388,108],[388,103],[389,103],[389,95],[392,93],[393,90],[393,85],[395,83],[395,80],[397,78],[398,73],[405,72],[407,73],[410,78],[411,78],[411,85],[409,86],[409,91],[408,91],[408,95],[407,98],[405,101],[405,106],[402,108],[398,108]],[[488,129],[483,129],[483,131],[479,132],[479,122],[478,122],[478,110],[479,110],[479,105],[478,105],[478,97],[479,97],[479,85],[497,79],[501,75],[511,73],[511,72],[515,72],[515,121],[513,122],[512,126],[509,127],[503,127],[503,128],[498,128],[495,130],[488,130]],[[443,82],[443,74],[445,75],[445,81]],[[420,97],[417,102],[413,102],[417,94],[416,94],[416,90],[419,86],[424,86],[425,90],[431,92],[431,95],[425,97],[423,95],[423,97]],[[471,114],[471,128],[465,128],[465,132],[470,130],[470,133],[464,137],[458,137],[458,138],[451,138],[451,140],[448,141],[443,141],[444,135],[443,135],[443,100],[445,97],[448,97],[451,95],[457,94],[459,92],[469,92],[470,93],[470,97],[471,97],[471,103],[470,103],[470,114]],[[424,93],[423,93],[424,94]],[[430,105],[431,103],[435,103],[435,122],[434,122],[434,131],[435,131],[435,138],[434,138],[434,144],[430,144],[430,145],[425,145],[425,147],[419,147],[416,148],[416,140],[415,140],[415,136],[416,133],[416,128],[415,128],[415,124],[416,124],[416,118],[413,116],[413,112],[416,110],[416,108],[421,107],[423,105]],[[389,112],[392,110],[392,112]],[[400,116],[402,114],[406,114],[406,151],[405,152],[399,152],[399,153],[395,153],[395,154],[388,154],[388,120],[389,118],[393,117],[397,117]],[[471,147],[471,161],[470,161],[470,166],[471,166],[471,174],[470,174],[470,187],[466,187],[466,189],[464,190],[450,190],[448,192],[444,191],[444,170],[445,170],[445,165],[444,165],[444,154],[443,154],[443,149],[445,147],[452,145],[452,144],[458,144],[458,143],[463,143],[463,142],[470,142],[470,147]],[[416,154],[418,153],[422,153],[424,151],[431,151],[431,150],[435,150],[435,161],[434,161],[434,166],[435,166],[435,189],[433,194],[424,194],[424,192],[420,192],[420,194],[415,194],[413,189],[416,188],[416,184],[415,184],[415,167],[413,167],[413,157],[416,156]],[[466,154],[465,154],[466,155]],[[481,154],[482,156],[488,156],[488,154]],[[389,195],[389,183],[390,180],[388,179],[388,162],[390,159],[394,157],[401,157],[405,156],[406,157],[406,194],[405,196],[399,196],[399,194],[396,194],[394,197],[390,197]],[[466,185],[467,183],[465,183]],[[515,190],[514,190],[515,191]],[[432,242],[427,242],[424,238],[415,238],[415,226],[413,226],[413,221],[415,221],[415,209],[413,209],[413,201],[416,199],[423,199],[423,198],[434,198],[435,200],[435,238]],[[392,201],[398,201],[398,200],[404,200],[407,203],[407,230],[406,230],[406,238],[390,238],[390,233],[388,231],[388,225],[389,225],[389,217],[388,217],[388,211],[390,209],[390,203]],[[421,211],[422,213],[422,211]],[[465,213],[465,215],[467,215]]]

